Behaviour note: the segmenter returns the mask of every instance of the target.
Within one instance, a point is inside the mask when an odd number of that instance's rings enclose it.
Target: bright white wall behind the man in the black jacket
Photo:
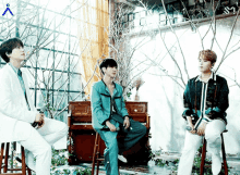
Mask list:
[[[227,46],[232,23],[233,17],[217,21],[216,38],[223,50],[225,50]],[[208,22],[200,24],[199,30],[202,37],[205,35],[208,27]],[[178,29],[176,29],[176,33],[180,39],[180,45],[184,53],[190,78],[194,77],[199,74],[197,55],[199,51],[202,50],[200,35],[199,33],[193,33],[190,27],[179,27]],[[171,32],[161,32],[161,35],[165,37],[165,41],[168,48],[170,48],[176,42],[176,37]],[[235,33],[228,47],[227,53],[232,50],[233,45],[240,41],[239,36],[240,20],[238,20],[237,22],[237,26],[235,28]],[[212,38],[213,32],[209,32],[203,41],[205,49],[211,48]],[[156,62],[159,62],[167,53],[160,39],[160,33],[158,33],[155,37],[148,39],[151,41],[134,54],[135,64],[139,61],[145,59],[143,52]],[[133,43],[135,41],[136,38],[132,39]],[[240,47],[240,43],[238,43],[235,48],[238,47]],[[175,50],[172,50],[171,53],[178,61],[179,66],[182,70],[184,83],[187,83],[188,77],[183,70],[183,59],[178,45],[176,45]],[[218,55],[218,61],[215,65],[216,67],[219,64],[223,52],[216,42],[214,43],[213,50]],[[224,77],[226,77],[227,75],[231,78],[235,78],[235,72],[232,71],[232,68],[235,68],[237,80],[240,83],[239,53],[240,50],[232,53],[228,59],[226,59],[217,73]],[[158,59],[156,59],[157,55]],[[151,63],[151,61],[148,61],[147,63]],[[169,54],[167,54],[167,57],[161,60],[160,65],[161,68],[165,67],[170,75],[180,76],[177,66],[170,59]],[[141,70],[143,68],[143,66],[139,68]],[[140,88],[139,91],[140,101],[148,101],[148,113],[151,115],[152,122],[151,133],[153,136],[153,138],[151,139],[151,145],[153,150],[159,150],[160,148],[163,148],[166,151],[181,151],[184,142],[185,127],[185,122],[181,117],[181,114],[183,112],[182,95],[184,89],[177,85],[168,76],[163,75],[165,74],[163,71],[160,71],[159,66],[152,66],[146,73],[143,74],[142,78],[145,84]],[[240,134],[240,111],[238,110],[240,109],[240,87],[235,86],[235,82],[232,82],[228,77],[226,78],[230,89],[230,107],[227,110],[227,128],[229,132],[224,135],[226,151],[227,153],[238,153],[240,152],[240,138],[238,137]],[[181,82],[179,83],[182,84]]]

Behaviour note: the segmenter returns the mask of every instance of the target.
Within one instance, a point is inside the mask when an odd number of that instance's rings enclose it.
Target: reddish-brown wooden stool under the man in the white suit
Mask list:
[[[8,158],[9,158],[9,145],[7,142],[5,155],[4,155],[4,164],[2,165],[3,160],[3,152],[4,152],[4,142],[1,145],[1,154],[0,154],[0,174],[8,174],[8,175],[26,175],[26,171],[28,175],[32,175],[31,170],[26,166],[25,163],[25,154],[24,154],[24,147],[21,146],[21,153],[22,153],[22,168],[8,168]],[[1,173],[3,170],[3,173]],[[22,173],[7,173],[8,171],[22,171]]]

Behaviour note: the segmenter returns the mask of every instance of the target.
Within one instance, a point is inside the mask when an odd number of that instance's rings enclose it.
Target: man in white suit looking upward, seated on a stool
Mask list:
[[[51,146],[68,133],[68,126],[37,112],[27,79],[21,72],[25,60],[23,42],[17,38],[1,43],[0,55],[7,62],[0,70],[0,142],[19,141],[26,163],[37,175],[50,175]],[[38,128],[32,124],[38,123]],[[36,163],[34,163],[36,158]]]

